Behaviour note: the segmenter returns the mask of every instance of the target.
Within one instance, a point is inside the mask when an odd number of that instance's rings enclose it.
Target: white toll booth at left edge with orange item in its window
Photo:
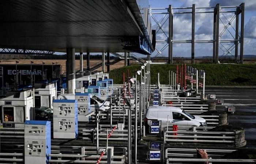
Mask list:
[[[8,91],[6,97],[0,99],[0,105],[4,128],[23,128],[26,120],[34,119],[31,90]]]

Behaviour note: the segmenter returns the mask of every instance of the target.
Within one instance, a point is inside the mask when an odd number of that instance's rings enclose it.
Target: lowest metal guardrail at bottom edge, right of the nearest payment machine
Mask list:
[[[98,155],[75,155],[75,154],[49,154],[48,156],[52,157],[49,160],[49,163],[96,163],[98,160]],[[53,159],[56,158],[56,159]],[[63,160],[62,158],[65,158]],[[67,158],[76,158],[76,160],[72,159],[69,160]],[[84,158],[84,160],[82,160]],[[102,156],[101,163],[108,164],[107,156]],[[125,164],[125,156],[111,156],[111,164]]]

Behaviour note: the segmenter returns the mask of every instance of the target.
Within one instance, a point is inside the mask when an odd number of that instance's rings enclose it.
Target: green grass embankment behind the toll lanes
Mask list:
[[[123,83],[123,72],[127,75],[127,69],[129,69],[130,77],[132,77],[135,70],[140,70],[140,66],[133,65],[114,69],[110,71],[109,76],[114,83],[121,84]],[[256,64],[195,64],[187,66],[193,66],[197,70],[205,70],[206,85],[256,86]],[[176,71],[176,65],[151,65],[151,83],[157,82],[157,74],[159,73],[160,83],[169,84],[169,70]]]

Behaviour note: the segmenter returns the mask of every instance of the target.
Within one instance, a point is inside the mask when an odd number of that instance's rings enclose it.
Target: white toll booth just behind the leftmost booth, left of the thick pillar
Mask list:
[[[54,83],[35,83],[35,108],[46,106],[53,108],[52,101],[56,99]]]

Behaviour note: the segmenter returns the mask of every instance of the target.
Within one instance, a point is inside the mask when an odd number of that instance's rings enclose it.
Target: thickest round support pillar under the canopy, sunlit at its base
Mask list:
[[[75,93],[76,65],[75,48],[67,48],[67,93]]]

